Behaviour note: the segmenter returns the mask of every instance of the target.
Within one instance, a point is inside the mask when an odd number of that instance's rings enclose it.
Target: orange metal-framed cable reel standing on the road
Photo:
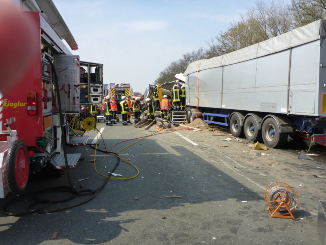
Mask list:
[[[284,182],[271,183],[264,192],[270,217],[294,219],[292,211],[298,206],[297,193]]]

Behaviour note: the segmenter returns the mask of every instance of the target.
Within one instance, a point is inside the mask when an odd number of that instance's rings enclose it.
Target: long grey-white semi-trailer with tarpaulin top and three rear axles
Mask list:
[[[187,115],[280,147],[299,134],[326,145],[326,21],[185,69]]]

